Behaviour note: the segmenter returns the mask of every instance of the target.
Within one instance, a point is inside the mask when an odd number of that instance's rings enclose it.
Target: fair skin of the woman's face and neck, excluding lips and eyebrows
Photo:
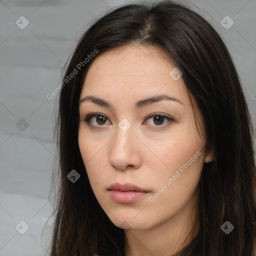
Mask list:
[[[126,256],[173,254],[190,241],[198,228],[196,225],[194,233],[182,244],[195,221],[198,181],[212,152],[205,151],[204,128],[201,137],[196,130],[182,76],[174,80],[169,75],[174,67],[157,47],[118,46],[93,60],[81,90],[80,99],[93,95],[112,105],[109,108],[91,101],[80,103],[78,143],[95,197],[109,219],[125,229]],[[161,100],[140,109],[134,107],[138,100],[160,94],[175,97],[182,104]],[[203,127],[193,97],[192,102]],[[107,118],[94,116],[89,126],[83,118],[92,112]],[[155,112],[173,117],[174,121],[146,119]],[[123,118],[131,124],[126,131],[118,126]],[[150,201],[149,197],[197,151],[200,156]],[[107,190],[114,182],[129,182],[149,192],[134,203],[117,203]]]

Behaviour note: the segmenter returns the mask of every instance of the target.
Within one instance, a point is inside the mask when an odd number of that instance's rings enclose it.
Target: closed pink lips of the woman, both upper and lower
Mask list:
[[[117,203],[130,204],[144,197],[148,191],[131,183],[114,183],[108,187],[111,199]]]

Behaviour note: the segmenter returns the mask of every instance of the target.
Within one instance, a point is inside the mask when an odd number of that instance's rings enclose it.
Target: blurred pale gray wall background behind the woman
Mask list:
[[[0,256],[48,255],[51,221],[41,232],[52,212],[56,96],[48,100],[46,94],[60,83],[61,69],[88,23],[130,2],[0,0]],[[224,39],[255,124],[256,0],[183,2]],[[15,23],[22,15],[29,21],[24,29]],[[228,29],[220,23],[227,15],[234,21]],[[25,230],[21,220],[29,226],[24,234],[17,231]]]

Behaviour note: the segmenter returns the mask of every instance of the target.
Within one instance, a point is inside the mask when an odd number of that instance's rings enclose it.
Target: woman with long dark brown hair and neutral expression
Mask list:
[[[118,7],[60,87],[50,255],[256,255],[251,120],[205,19],[171,1]]]

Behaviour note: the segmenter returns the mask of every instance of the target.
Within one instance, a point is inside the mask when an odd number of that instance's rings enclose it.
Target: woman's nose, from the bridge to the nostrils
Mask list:
[[[117,126],[116,135],[109,143],[109,163],[119,170],[138,168],[141,164],[141,141],[134,134],[132,126],[123,131]]]

